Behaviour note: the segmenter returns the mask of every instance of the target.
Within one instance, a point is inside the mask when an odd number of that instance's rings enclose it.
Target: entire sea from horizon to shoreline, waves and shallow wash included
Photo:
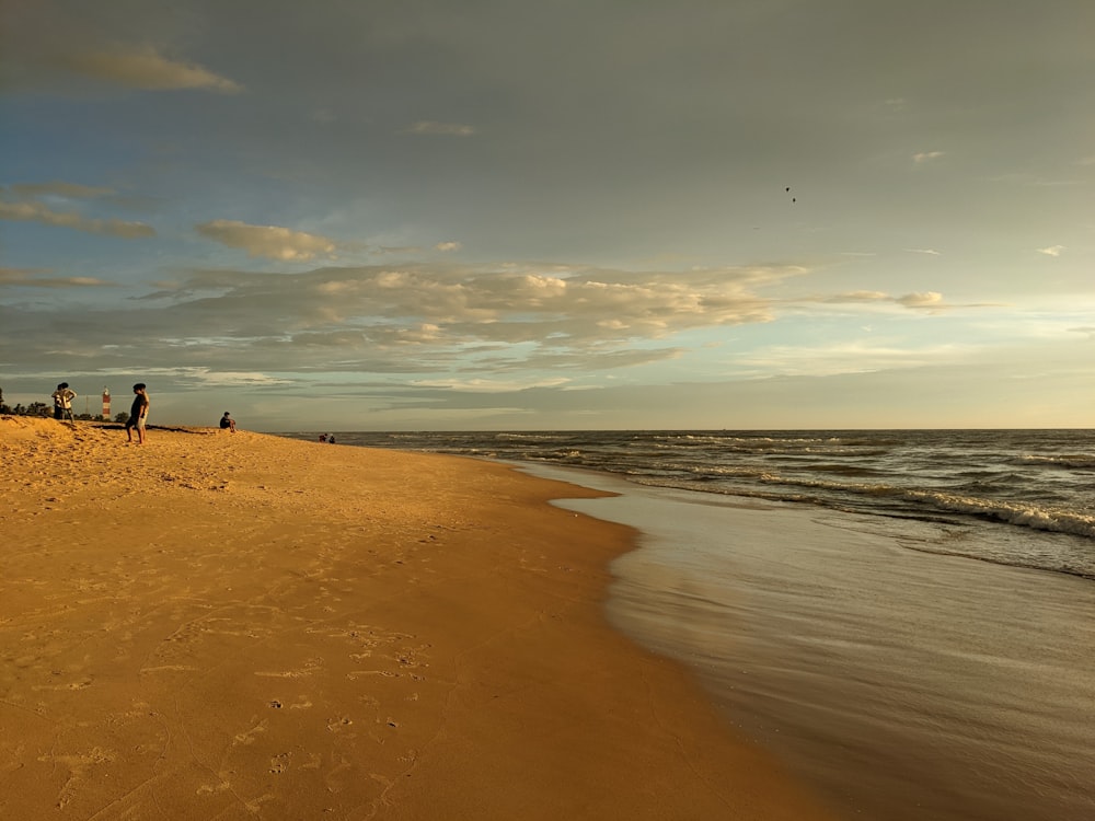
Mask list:
[[[1095,432],[336,438],[616,494],[609,620],[843,817],[1095,819]]]

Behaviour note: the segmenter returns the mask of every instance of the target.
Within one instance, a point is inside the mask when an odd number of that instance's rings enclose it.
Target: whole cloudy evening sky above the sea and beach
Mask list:
[[[1090,0],[0,0],[0,390],[1091,427]]]

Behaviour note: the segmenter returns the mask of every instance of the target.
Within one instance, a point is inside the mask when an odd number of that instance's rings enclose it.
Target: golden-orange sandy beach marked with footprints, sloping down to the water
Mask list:
[[[0,818],[822,819],[602,615],[597,492],[0,417]]]

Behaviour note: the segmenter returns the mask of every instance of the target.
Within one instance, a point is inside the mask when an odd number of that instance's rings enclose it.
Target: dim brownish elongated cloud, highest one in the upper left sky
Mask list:
[[[114,45],[59,58],[73,73],[143,91],[200,89],[238,94],[243,86],[194,63],[172,60],[152,46]]]

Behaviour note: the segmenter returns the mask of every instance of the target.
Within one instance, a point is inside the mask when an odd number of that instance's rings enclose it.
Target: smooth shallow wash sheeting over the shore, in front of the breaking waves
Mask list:
[[[643,533],[610,620],[849,818],[1095,819],[1090,579],[941,553],[941,523],[530,472],[622,494],[558,502]]]

